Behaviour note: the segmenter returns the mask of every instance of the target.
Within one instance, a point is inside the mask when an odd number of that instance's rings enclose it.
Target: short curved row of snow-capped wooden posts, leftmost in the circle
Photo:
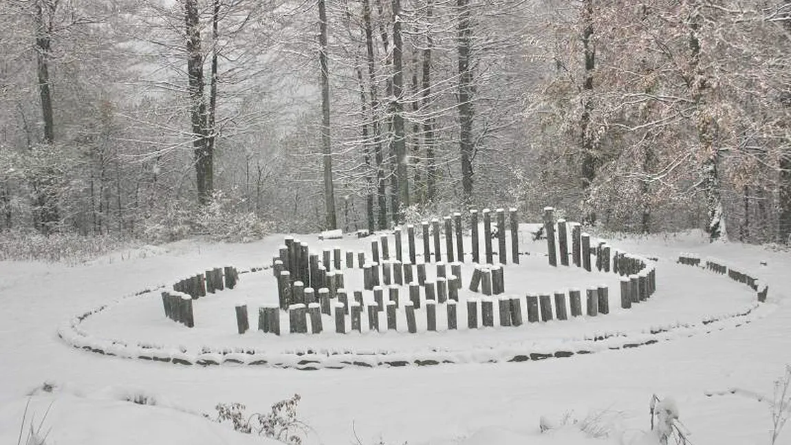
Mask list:
[[[225,288],[233,289],[239,281],[236,267],[225,266],[206,270],[195,276],[184,278],[173,285],[172,291],[162,292],[162,307],[165,316],[174,322],[187,327],[195,327],[195,315],[192,311],[192,300],[198,300],[207,293],[214,293]]]

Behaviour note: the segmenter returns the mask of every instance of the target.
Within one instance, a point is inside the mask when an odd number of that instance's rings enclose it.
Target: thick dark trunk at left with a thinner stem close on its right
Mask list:
[[[211,153],[206,138],[206,102],[203,100],[203,54],[201,52],[198,0],[184,1],[184,21],[187,31],[187,76],[192,123],[192,150],[195,156],[195,178],[198,202],[209,202],[212,187]]]

